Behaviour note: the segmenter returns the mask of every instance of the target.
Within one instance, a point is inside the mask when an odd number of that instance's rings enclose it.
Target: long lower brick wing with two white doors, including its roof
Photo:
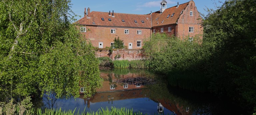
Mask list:
[[[151,16],[112,12],[84,11],[84,17],[77,21],[80,31],[94,47],[105,48],[113,44],[115,38],[124,41],[129,49],[140,49],[142,40],[150,37]]]

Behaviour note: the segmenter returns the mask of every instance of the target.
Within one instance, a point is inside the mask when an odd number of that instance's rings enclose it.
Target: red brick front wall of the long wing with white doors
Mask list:
[[[137,47],[137,40],[150,37],[151,29],[138,29],[138,28],[119,28],[119,27],[97,27],[97,26],[79,26],[86,27],[86,32],[81,32],[85,38],[89,39],[94,47],[99,47],[99,42],[103,42],[103,48],[110,47],[110,43],[114,42],[116,38],[124,40],[124,45],[132,43],[133,49],[141,49]],[[115,29],[116,33],[111,33],[111,29]],[[128,29],[129,34],[125,34],[124,30]],[[142,34],[137,34],[137,30],[141,30]],[[142,45],[142,44],[141,44]]]

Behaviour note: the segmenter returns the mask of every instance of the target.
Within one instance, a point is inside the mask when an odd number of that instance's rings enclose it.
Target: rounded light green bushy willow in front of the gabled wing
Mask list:
[[[143,49],[150,69],[167,74],[175,70],[185,71],[198,68],[193,65],[204,58],[204,50],[199,42],[200,38],[196,36],[190,42],[188,39],[181,40],[167,34],[156,33],[145,40]]]

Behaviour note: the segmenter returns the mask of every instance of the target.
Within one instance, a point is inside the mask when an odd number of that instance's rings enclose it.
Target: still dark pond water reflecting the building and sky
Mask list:
[[[226,115],[241,114],[231,102],[219,100],[208,93],[197,93],[171,87],[165,77],[146,70],[102,70],[103,87],[92,98],[57,99],[54,108],[62,110],[97,111],[108,107],[125,107],[147,115]],[[49,108],[47,99],[36,102]],[[41,103],[41,104],[38,104]]]

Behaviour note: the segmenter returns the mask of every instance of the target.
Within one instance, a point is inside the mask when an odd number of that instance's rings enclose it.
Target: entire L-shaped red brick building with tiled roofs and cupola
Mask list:
[[[84,17],[76,21],[81,33],[94,47],[106,48],[120,38],[128,49],[140,49],[143,39],[152,33],[165,32],[181,39],[202,34],[202,18],[193,0],[167,8],[167,2],[160,3],[160,11],[146,15],[84,10]]]

